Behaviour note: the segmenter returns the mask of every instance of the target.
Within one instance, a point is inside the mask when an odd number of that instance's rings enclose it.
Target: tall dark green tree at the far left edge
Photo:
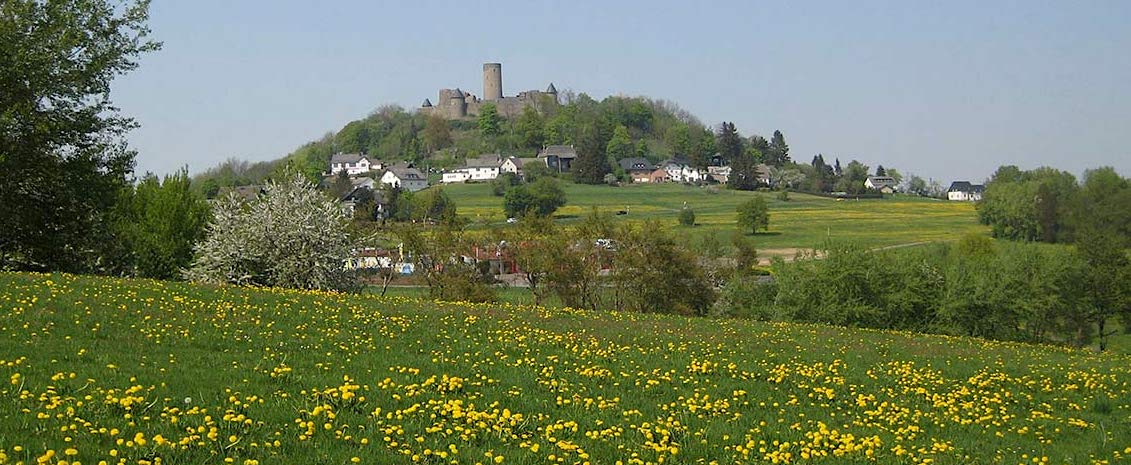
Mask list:
[[[148,1],[0,3],[0,269],[105,272],[137,123],[110,98],[149,41]]]

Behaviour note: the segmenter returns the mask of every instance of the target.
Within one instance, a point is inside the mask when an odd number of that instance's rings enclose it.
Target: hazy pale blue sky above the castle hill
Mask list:
[[[155,1],[162,51],[114,86],[138,171],[286,155],[440,87],[676,102],[794,160],[979,181],[1131,174],[1131,1]]]

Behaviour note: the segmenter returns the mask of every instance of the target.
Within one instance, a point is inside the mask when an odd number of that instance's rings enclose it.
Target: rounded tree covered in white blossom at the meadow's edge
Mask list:
[[[207,238],[185,277],[199,283],[352,291],[345,268],[353,242],[348,216],[293,174],[269,181],[252,200],[230,193],[214,206]]]

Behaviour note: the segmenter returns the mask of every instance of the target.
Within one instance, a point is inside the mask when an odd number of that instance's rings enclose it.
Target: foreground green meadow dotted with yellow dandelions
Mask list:
[[[0,463],[1121,463],[1131,358],[0,274]]]

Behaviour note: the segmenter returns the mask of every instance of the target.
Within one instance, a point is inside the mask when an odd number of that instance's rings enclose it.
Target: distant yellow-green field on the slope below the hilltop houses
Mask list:
[[[793,255],[795,249],[820,247],[827,240],[847,240],[863,247],[879,248],[929,241],[949,241],[969,232],[987,232],[978,224],[972,203],[952,203],[898,196],[886,199],[836,200],[791,193],[791,200],[777,199],[776,192],[742,192],[675,183],[628,184],[613,188],[562,183],[567,205],[556,216],[568,224],[579,221],[594,207],[604,213],[624,210],[619,221],[656,219],[671,225],[675,234],[692,243],[707,234],[717,234],[729,244],[740,233],[735,225],[737,206],[760,195],[770,206],[769,232],[752,235],[763,255]],[[444,186],[460,215],[478,224],[506,227],[502,197],[491,195],[485,183]],[[696,213],[693,227],[680,226],[676,214],[687,205]]]

